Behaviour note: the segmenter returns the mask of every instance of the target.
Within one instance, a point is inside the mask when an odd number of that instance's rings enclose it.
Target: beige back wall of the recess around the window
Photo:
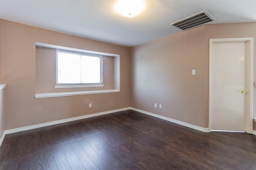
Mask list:
[[[55,88],[56,49],[36,47],[36,93],[114,89],[114,57],[103,56],[103,87]]]

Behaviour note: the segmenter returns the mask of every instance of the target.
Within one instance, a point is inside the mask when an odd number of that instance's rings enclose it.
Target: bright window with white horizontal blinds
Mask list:
[[[102,85],[102,55],[56,50],[56,86]]]

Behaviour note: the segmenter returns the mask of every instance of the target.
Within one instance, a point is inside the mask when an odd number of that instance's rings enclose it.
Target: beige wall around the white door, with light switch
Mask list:
[[[201,26],[132,47],[131,107],[208,128],[209,39],[242,37],[254,37],[256,49],[256,22]]]

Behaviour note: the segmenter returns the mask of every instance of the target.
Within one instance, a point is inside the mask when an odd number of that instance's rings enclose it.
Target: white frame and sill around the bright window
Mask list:
[[[100,83],[58,83],[58,52],[70,53],[70,54],[79,54],[90,57],[100,58]],[[56,49],[56,85],[55,88],[74,88],[74,87],[103,87],[103,61],[102,55],[92,54],[92,53],[83,53],[80,51],[70,51],[64,49]]]

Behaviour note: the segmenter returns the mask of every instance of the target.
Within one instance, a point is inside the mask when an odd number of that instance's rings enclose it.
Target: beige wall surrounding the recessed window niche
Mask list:
[[[1,20],[6,130],[130,106],[129,48]],[[120,92],[35,99],[36,46],[46,43],[120,55]],[[92,103],[92,108],[88,108]]]

